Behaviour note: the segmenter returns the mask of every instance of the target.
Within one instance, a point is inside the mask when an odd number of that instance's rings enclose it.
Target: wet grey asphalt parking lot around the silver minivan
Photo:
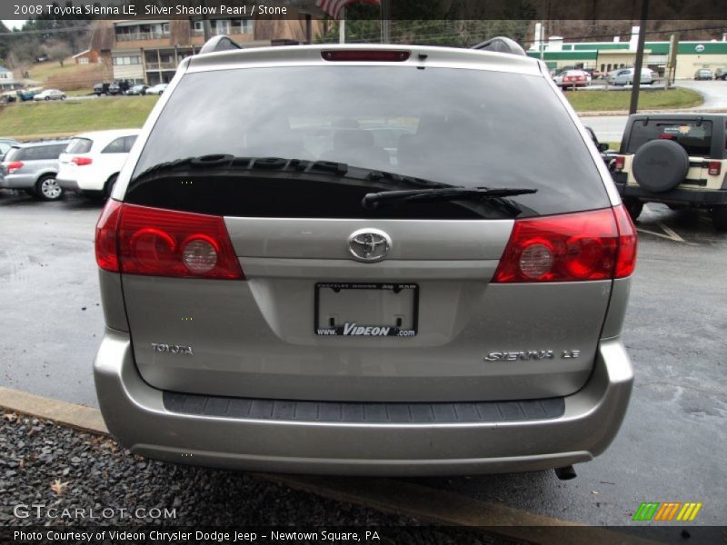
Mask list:
[[[101,203],[0,193],[0,385],[97,406],[91,362],[103,316],[94,226]],[[627,525],[642,501],[699,501],[694,524],[724,523],[727,235],[702,213],[649,204],[623,329],[636,370],[606,453],[552,471],[416,482],[564,520]],[[365,486],[365,480],[362,486]]]

